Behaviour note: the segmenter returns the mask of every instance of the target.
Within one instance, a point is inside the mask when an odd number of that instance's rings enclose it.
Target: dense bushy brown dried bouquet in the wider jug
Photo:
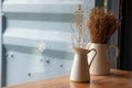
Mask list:
[[[94,8],[90,12],[88,28],[92,43],[108,43],[110,36],[118,30],[118,18],[105,8]]]

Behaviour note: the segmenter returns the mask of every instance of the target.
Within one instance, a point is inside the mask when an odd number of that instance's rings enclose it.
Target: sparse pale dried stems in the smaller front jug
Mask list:
[[[72,23],[70,19],[68,19],[70,28],[72,28],[72,43],[73,46],[85,47],[87,44],[87,18],[88,11],[82,10],[79,4],[77,10],[75,11],[75,25]],[[76,26],[76,29],[75,29]],[[77,43],[76,43],[77,42]]]

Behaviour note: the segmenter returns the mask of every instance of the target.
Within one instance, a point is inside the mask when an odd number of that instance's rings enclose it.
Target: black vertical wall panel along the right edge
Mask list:
[[[121,54],[119,68],[132,70],[132,0],[122,1]]]

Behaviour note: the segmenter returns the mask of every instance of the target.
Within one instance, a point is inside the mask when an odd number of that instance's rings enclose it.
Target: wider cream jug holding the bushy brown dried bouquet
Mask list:
[[[112,64],[117,61],[119,55],[119,50],[116,45],[108,45],[108,44],[96,44],[91,43],[89,45],[89,50],[95,48],[97,51],[97,55],[95,57],[95,61],[91,64],[90,67],[90,74],[91,75],[108,75],[110,74],[110,68]],[[116,50],[114,57],[112,61],[109,61],[109,52],[111,48]],[[92,61],[92,56],[95,53],[88,54],[88,63],[90,64],[90,61]]]

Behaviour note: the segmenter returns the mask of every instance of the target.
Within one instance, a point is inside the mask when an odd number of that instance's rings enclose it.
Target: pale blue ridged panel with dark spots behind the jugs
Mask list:
[[[2,2],[6,86],[69,75],[74,53],[68,19],[78,4],[90,10],[95,0]]]

